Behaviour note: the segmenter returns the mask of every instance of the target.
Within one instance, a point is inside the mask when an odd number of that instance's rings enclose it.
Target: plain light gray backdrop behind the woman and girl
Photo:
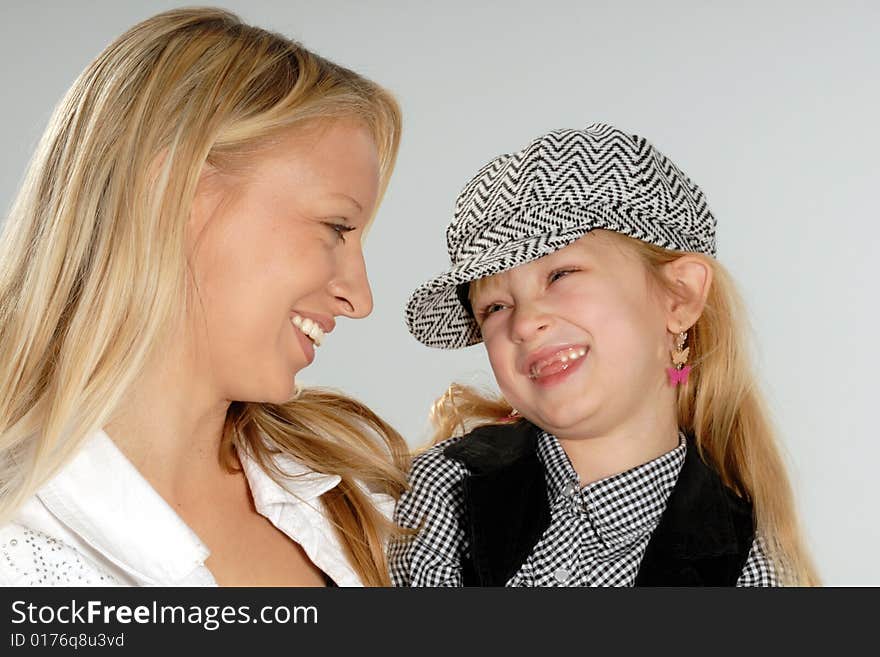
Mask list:
[[[76,75],[125,28],[180,4],[0,4],[4,211]],[[533,136],[615,124],[709,197],[825,583],[880,585],[878,3],[217,4],[403,105],[398,169],[367,243],[375,311],[340,322],[304,381],[348,391],[422,444],[450,381],[491,381],[482,348],[430,350],[402,320],[411,289],[447,264],[456,194]]]

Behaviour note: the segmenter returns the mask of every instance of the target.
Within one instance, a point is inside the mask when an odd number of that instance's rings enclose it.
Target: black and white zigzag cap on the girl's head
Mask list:
[[[568,246],[594,228],[715,256],[715,218],[697,187],[646,139],[605,123],[554,130],[480,169],[446,229],[451,268],[406,306],[429,347],[482,340],[456,288]]]

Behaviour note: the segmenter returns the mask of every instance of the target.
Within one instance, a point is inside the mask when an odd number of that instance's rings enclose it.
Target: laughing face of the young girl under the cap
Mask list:
[[[559,438],[604,435],[674,403],[668,313],[622,240],[592,231],[475,284],[474,313],[498,386]]]

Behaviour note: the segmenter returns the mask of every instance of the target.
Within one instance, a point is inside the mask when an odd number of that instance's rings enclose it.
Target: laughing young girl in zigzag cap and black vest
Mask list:
[[[554,131],[476,174],[447,239],[408,325],[482,341],[503,398],[453,385],[435,405],[447,439],[398,503],[395,584],[816,583],[681,170],[609,125]]]

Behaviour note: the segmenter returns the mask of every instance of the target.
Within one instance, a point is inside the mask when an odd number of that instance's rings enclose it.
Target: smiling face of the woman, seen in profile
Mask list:
[[[224,399],[290,399],[296,373],[333,348],[334,318],[371,312],[361,242],[378,188],[376,147],[354,121],[291,131],[234,173],[206,170],[188,324],[197,368]]]

